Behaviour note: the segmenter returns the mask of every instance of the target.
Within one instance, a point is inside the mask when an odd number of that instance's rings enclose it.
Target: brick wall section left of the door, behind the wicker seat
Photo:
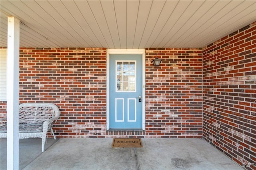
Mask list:
[[[20,103],[26,102],[60,108],[57,138],[105,134],[106,49],[20,48]]]

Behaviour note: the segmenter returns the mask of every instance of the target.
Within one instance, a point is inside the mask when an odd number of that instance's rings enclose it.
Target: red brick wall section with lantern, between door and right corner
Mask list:
[[[159,67],[152,60],[162,59]],[[202,138],[202,51],[146,49],[146,137]]]

